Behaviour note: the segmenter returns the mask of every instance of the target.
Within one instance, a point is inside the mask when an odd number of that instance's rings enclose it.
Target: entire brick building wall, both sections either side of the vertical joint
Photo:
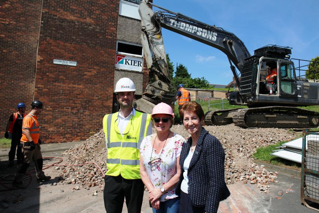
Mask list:
[[[6,45],[0,62],[2,131],[10,110],[20,101],[29,105],[33,91],[34,100],[44,103],[41,131],[54,137],[41,136],[46,143],[85,140],[100,131],[103,116],[112,109],[119,2],[9,2],[1,10],[12,15],[0,23]],[[53,59],[76,61],[77,66],[56,65]]]

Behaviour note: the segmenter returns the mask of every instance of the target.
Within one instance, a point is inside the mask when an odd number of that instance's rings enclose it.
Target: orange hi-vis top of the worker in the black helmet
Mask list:
[[[40,137],[40,124],[38,122],[38,117],[29,113],[23,118],[21,141],[28,142],[29,140],[26,138],[24,128],[29,129],[33,142],[38,143]]]

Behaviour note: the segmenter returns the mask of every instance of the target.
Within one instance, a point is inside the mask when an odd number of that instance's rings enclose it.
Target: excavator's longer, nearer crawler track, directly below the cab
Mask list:
[[[259,107],[236,110],[233,122],[241,127],[314,128],[318,116],[318,112],[297,107]]]

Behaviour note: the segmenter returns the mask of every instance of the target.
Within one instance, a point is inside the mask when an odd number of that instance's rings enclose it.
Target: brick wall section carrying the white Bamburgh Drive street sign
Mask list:
[[[111,113],[117,0],[44,1],[34,99],[46,142],[85,140]],[[53,59],[77,61],[56,65]]]

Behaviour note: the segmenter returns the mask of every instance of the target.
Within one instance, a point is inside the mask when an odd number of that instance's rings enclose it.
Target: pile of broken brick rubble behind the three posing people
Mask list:
[[[204,126],[212,135],[217,137],[225,149],[225,181],[227,184],[243,181],[256,184],[260,190],[269,193],[270,182],[277,179],[276,172],[267,171],[263,166],[253,162],[256,148],[276,144],[279,141],[289,141],[299,133],[278,128],[244,129],[233,124],[227,126]],[[171,130],[189,138],[184,126],[174,125]],[[154,131],[154,130],[153,130]],[[106,171],[107,149],[103,131],[94,134],[83,143],[63,153],[63,164],[83,164],[95,162]],[[97,192],[104,188],[103,175],[92,163],[83,166],[60,166],[55,168],[61,174],[61,183],[78,184],[86,189],[99,186]]]

